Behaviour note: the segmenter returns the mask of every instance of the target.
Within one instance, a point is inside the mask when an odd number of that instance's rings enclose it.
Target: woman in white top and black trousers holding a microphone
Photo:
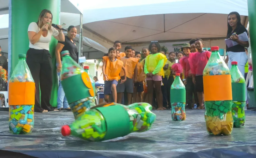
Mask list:
[[[52,57],[49,53],[49,43],[52,36],[64,42],[65,36],[60,29],[52,27],[52,13],[44,9],[41,11],[37,23],[28,26],[29,49],[27,64],[36,83],[35,112],[53,111],[50,104],[52,92]],[[41,104],[39,81],[41,89]]]

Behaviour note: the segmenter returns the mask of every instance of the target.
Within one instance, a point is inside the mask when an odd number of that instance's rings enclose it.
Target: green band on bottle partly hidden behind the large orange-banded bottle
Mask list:
[[[232,98],[233,101],[245,102],[245,83],[231,83],[232,85]]]

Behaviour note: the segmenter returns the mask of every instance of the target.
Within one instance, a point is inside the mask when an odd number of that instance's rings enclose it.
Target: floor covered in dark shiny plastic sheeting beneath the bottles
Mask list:
[[[256,157],[256,111],[246,111],[245,126],[234,128],[230,136],[209,135],[205,128],[204,110],[186,110],[187,119],[182,122],[172,121],[170,110],[153,112],[156,113],[156,121],[147,132],[131,133],[103,142],[88,142],[61,135],[60,127],[74,121],[72,112],[35,113],[32,134],[13,135],[9,132],[8,111],[0,111],[0,157]]]

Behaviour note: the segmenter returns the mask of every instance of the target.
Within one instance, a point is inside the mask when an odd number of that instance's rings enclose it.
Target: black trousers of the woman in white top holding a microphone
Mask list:
[[[52,56],[48,50],[29,48],[26,62],[36,84],[35,112],[53,111],[50,104],[52,93]],[[41,104],[40,91],[41,90]]]

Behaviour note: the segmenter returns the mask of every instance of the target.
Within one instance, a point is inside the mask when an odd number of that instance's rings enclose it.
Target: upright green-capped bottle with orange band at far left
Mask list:
[[[35,82],[26,63],[19,61],[9,81],[9,129],[12,134],[28,134],[34,128]]]

